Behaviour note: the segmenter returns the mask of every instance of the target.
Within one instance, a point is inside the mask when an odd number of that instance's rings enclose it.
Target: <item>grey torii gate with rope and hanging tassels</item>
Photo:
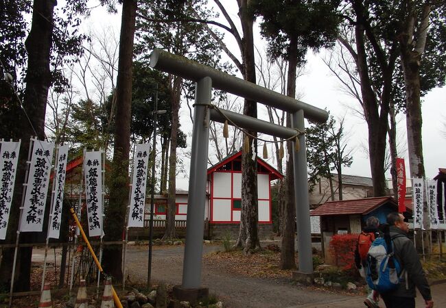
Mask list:
[[[224,123],[226,118],[228,118],[238,127],[286,139],[296,136],[296,129],[298,131],[305,130],[304,117],[317,123],[324,123],[328,119],[328,113],[320,108],[161,49],[154,49],[150,55],[150,66],[166,73],[196,81],[183,283],[181,286],[174,287],[174,295],[178,299],[194,301],[196,298],[207,294],[207,289],[200,286],[200,281],[209,120]],[[239,97],[252,99],[258,103],[289,112],[291,114],[292,128],[275,125],[227,110],[215,110],[211,105],[212,88],[230,92]],[[298,272],[295,274],[296,277],[300,274],[305,277],[313,273],[305,134],[300,134],[298,140],[301,150],[298,152],[293,151],[292,157],[294,161],[294,192],[296,196],[298,238]]]

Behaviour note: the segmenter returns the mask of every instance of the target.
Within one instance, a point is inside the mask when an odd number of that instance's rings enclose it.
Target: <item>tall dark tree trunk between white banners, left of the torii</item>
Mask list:
[[[106,241],[119,241],[122,239],[128,205],[132,58],[136,12],[136,0],[123,1],[116,87],[117,116],[115,125],[115,149],[113,151],[110,202],[108,207],[106,207],[106,216],[104,219],[104,240]],[[115,281],[121,281],[122,279],[121,259],[122,245],[104,246],[102,266],[104,272],[111,274]]]

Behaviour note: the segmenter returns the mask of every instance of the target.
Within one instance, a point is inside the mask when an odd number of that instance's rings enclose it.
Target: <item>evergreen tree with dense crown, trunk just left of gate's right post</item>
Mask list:
[[[336,38],[340,1],[257,0],[254,9],[262,16],[261,34],[268,40],[270,57],[283,57],[288,62],[287,96],[296,97],[296,69],[305,63],[307,49],[331,47]],[[290,114],[287,126],[290,127]],[[292,157],[292,142],[287,142]],[[286,166],[286,196],[282,235],[281,268],[296,267],[294,261],[295,196],[293,162]],[[309,205],[299,205],[309,206]]]

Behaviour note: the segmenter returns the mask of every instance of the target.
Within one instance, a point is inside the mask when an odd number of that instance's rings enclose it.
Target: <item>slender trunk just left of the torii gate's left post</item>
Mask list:
[[[180,110],[182,79],[174,77],[172,97],[172,131],[170,132],[169,156],[169,192],[167,194],[167,216],[163,240],[175,238],[175,211],[176,211],[176,144],[178,141],[178,112]]]

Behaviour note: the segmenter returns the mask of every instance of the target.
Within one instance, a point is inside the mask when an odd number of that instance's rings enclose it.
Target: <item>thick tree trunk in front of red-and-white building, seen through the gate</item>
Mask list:
[[[242,58],[244,62],[244,79],[256,83],[254,62],[254,16],[248,11],[248,0],[239,0],[239,16],[242,23]],[[243,114],[257,118],[257,103],[245,99]],[[248,131],[251,136],[257,136],[257,132]],[[244,137],[246,138],[244,133]],[[251,144],[254,143],[254,147]],[[249,137],[250,151],[242,151],[242,211],[240,217],[239,236],[235,246],[243,247],[245,253],[260,248],[258,234],[258,196],[257,196],[257,157],[252,159],[253,153],[257,153],[257,142]]]

